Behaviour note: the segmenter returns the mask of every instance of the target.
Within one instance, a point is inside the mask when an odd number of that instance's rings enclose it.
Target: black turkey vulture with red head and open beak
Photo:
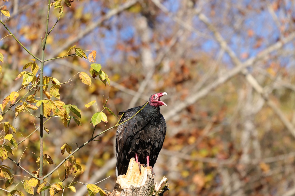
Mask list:
[[[166,135],[166,122],[160,113],[160,106],[166,105],[160,98],[167,93],[150,96],[149,103],[126,111],[120,111],[119,123],[131,118],[117,128],[116,134],[116,175],[126,174],[129,161],[135,157],[138,163],[154,167]],[[167,105],[166,105],[167,106]]]

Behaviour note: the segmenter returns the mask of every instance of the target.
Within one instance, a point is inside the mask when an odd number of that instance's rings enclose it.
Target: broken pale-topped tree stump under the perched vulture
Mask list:
[[[132,158],[128,165],[127,173],[119,175],[110,196],[151,196],[163,195],[169,190],[168,179],[164,176],[159,185],[154,184],[155,175],[152,174],[150,167],[141,166],[139,171],[138,164]]]

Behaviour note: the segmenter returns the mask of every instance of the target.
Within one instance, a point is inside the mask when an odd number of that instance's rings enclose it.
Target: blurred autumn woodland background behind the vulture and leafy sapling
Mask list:
[[[46,2],[0,4],[10,11],[9,29],[40,57]],[[161,107],[167,135],[154,167],[156,181],[168,178],[171,190],[165,195],[295,195],[295,1],[80,0],[71,5],[47,38],[45,59],[63,56],[74,45],[96,50],[96,63],[109,75],[111,86],[98,78],[92,78],[91,87],[81,83],[74,75],[89,73],[90,63],[77,56],[45,64],[45,75],[60,82],[74,76],[60,88],[60,98],[82,110],[82,126],[72,120],[65,128],[60,118],[45,124],[50,132],[44,136],[44,153],[56,165],[65,157],[60,154],[63,144],[76,149],[76,143],[91,138],[89,122],[103,99],[109,97],[106,106],[117,114],[143,105],[153,93],[167,92],[162,99],[167,107]],[[50,9],[50,29],[58,11]],[[1,38],[8,34],[1,26]],[[21,88],[22,81],[14,79],[32,57],[12,36],[1,40],[0,47],[3,100]],[[92,100],[97,107],[85,108]],[[18,127],[17,142],[39,123],[24,113],[19,117],[14,119],[13,112],[4,116],[4,122]],[[118,120],[109,114],[108,119],[95,133]],[[97,185],[112,191],[115,133],[109,130],[79,150],[74,156],[84,173],[71,174],[64,184],[96,183],[111,176]],[[21,158],[23,167],[35,171],[34,153],[39,153],[37,132],[10,157]],[[27,176],[10,160],[1,164]],[[45,172],[56,165],[45,163]],[[58,173],[63,180],[63,166]],[[58,173],[46,180],[58,182]],[[15,179],[19,183],[23,177]],[[86,186],[76,185],[75,195],[85,194]]]

